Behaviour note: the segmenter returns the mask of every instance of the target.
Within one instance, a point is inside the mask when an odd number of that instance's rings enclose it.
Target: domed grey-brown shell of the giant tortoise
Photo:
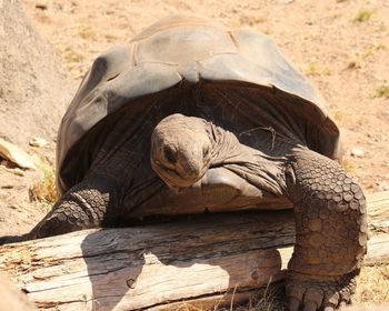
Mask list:
[[[328,116],[317,89],[299,73],[265,34],[237,30],[196,16],[172,16],[98,57],[66,112],[57,141],[57,188],[66,192],[77,180],[62,179],[74,167],[64,161],[72,148],[96,124],[123,106],[182,83],[229,81],[278,91],[288,106],[316,130],[311,149],[339,158],[339,130]],[[260,101],[258,101],[260,104]],[[248,107],[247,109],[250,109]],[[86,161],[86,160],[83,160]],[[88,167],[88,163],[87,163]]]

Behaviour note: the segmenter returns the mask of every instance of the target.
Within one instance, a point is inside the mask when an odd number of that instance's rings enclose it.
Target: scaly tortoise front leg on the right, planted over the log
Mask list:
[[[286,179],[296,213],[289,309],[327,311],[350,303],[367,250],[360,187],[337,162],[306,149],[293,150]]]

